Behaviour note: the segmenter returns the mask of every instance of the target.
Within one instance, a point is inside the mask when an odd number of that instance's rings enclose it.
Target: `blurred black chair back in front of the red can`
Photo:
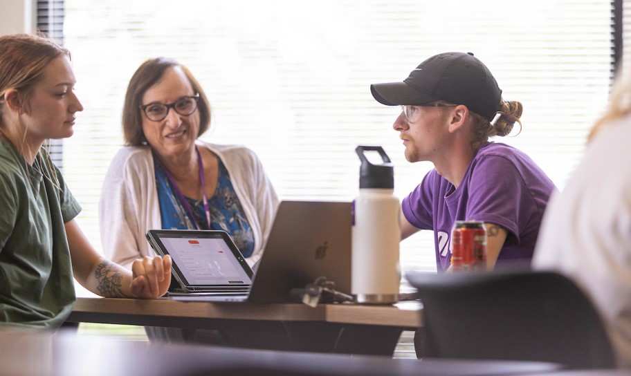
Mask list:
[[[417,356],[614,368],[592,303],[553,272],[409,273],[423,303]],[[420,341],[419,341],[420,339]]]

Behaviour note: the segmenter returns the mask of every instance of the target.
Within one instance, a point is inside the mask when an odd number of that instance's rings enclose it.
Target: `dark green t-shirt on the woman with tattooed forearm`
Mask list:
[[[81,207],[45,160],[31,166],[0,135],[0,328],[56,328],[75,303],[64,223]]]

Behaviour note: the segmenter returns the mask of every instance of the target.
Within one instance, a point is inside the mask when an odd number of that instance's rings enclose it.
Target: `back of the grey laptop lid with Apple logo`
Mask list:
[[[320,277],[351,292],[351,203],[280,203],[248,301],[284,303]]]

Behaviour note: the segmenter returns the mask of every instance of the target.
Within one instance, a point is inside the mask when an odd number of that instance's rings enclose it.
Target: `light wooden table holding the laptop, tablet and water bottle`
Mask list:
[[[289,335],[289,347],[268,343],[269,348],[392,356],[401,332],[421,327],[420,310],[421,304],[412,301],[395,306],[336,303],[311,308],[300,303],[78,298],[68,321],[229,330],[244,337],[282,326]],[[239,346],[238,335],[235,338]]]

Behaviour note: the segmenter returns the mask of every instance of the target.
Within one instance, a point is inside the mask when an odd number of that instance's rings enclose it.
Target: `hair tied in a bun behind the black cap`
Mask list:
[[[473,149],[477,150],[483,142],[488,141],[489,137],[509,135],[513,131],[515,122],[520,124],[521,132],[522,122],[520,117],[522,116],[522,111],[524,111],[524,106],[521,102],[506,102],[500,99],[500,104],[497,105],[497,115],[495,115],[493,122],[489,122],[482,115],[470,112],[469,116],[473,119],[473,140],[471,141]]]

